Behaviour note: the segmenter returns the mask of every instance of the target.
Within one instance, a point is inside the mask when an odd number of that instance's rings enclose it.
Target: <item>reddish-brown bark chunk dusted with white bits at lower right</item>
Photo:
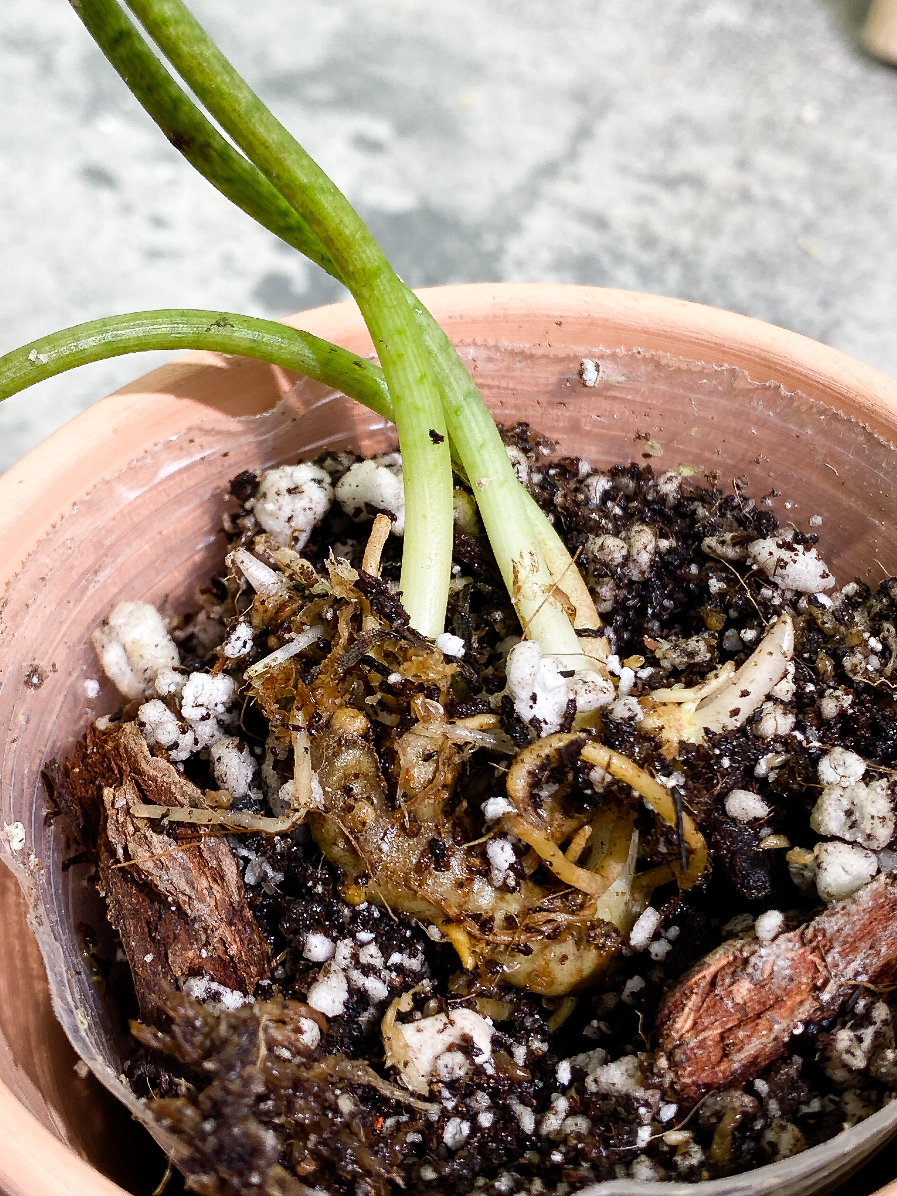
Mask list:
[[[801,1025],[836,1013],[856,984],[897,977],[897,885],[878,877],[771,942],[724,942],[658,1009],[658,1045],[688,1100],[744,1084]]]

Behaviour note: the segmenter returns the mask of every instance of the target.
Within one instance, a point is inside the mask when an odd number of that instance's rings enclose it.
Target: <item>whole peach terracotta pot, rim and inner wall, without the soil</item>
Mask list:
[[[499,420],[526,419],[596,464],[689,463],[753,495],[773,488],[785,520],[822,515],[836,574],[897,572],[897,383],[804,337],[727,312],[585,287],[462,286],[425,293]],[[356,352],[371,350],[347,304],[293,317]],[[582,356],[600,362],[594,388]],[[28,402],[25,398],[24,402]],[[275,405],[276,404],[276,405]],[[109,608],[141,597],[189,606],[220,560],[215,532],[227,480],[313,454],[323,445],[382,450],[392,429],[306,379],[258,362],[191,354],[97,403],[0,478],[0,824],[22,822],[25,847],[0,868],[0,1189],[8,1196],[111,1196],[151,1190],[115,1090],[120,1032],[73,927],[102,913],[61,828],[45,818],[42,762],[92,716],[115,708],[87,636]],[[26,911],[41,942],[26,925]],[[704,1191],[828,1190],[897,1129],[897,1103],[795,1159]],[[144,1136],[144,1141],[146,1141]],[[142,1158],[142,1161],[141,1161]],[[111,1178],[106,1178],[111,1177]],[[631,1182],[603,1185],[636,1191]],[[655,1188],[652,1190],[657,1191]],[[667,1192],[694,1194],[692,1185]]]

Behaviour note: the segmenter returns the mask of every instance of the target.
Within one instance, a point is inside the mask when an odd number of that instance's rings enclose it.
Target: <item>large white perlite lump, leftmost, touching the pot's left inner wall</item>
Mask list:
[[[120,602],[91,642],[103,672],[132,700],[152,691],[161,669],[181,663],[161,615],[148,602]]]

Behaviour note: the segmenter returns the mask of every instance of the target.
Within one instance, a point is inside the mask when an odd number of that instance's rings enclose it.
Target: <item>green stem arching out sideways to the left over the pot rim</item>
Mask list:
[[[0,399],[77,366],[147,349],[210,349],[306,374],[392,419],[383,371],[285,324],[220,311],[136,311],[77,324],[0,358]]]

